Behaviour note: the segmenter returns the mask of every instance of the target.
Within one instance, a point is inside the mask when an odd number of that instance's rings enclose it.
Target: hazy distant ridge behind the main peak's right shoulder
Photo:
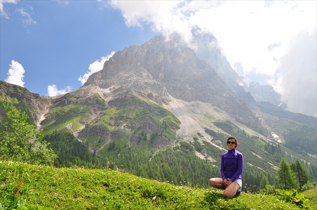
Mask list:
[[[206,61],[218,73],[237,97],[249,104],[255,101],[264,101],[281,109],[287,109],[286,104],[281,102],[281,95],[272,86],[261,85],[258,82],[251,82],[248,86],[244,82],[244,78],[232,69],[222,53],[219,42],[212,34],[199,33],[198,29],[193,30],[193,32],[194,39],[187,46],[194,49],[197,57]]]

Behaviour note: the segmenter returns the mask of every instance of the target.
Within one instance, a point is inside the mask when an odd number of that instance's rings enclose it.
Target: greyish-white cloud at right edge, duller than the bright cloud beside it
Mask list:
[[[291,39],[281,58],[278,91],[291,112],[317,117],[317,36],[303,33]]]

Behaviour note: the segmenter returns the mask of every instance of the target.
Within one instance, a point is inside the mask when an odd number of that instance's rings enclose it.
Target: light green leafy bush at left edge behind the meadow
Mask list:
[[[42,131],[27,123],[27,115],[9,102],[4,105],[6,118],[0,121],[0,158],[32,164],[52,165],[57,157],[42,141]]]

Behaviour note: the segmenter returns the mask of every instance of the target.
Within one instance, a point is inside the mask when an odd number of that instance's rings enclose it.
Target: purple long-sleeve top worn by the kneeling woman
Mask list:
[[[230,178],[232,181],[241,179],[243,171],[243,155],[235,149],[228,150],[221,155],[220,173],[222,179]]]

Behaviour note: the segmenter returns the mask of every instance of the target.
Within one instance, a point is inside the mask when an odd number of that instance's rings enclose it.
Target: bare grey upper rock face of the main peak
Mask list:
[[[260,126],[246,102],[237,98],[215,70],[177,38],[157,36],[115,53],[84,84],[123,89],[185,101],[211,103],[245,124]],[[242,88],[242,87],[241,87]]]

